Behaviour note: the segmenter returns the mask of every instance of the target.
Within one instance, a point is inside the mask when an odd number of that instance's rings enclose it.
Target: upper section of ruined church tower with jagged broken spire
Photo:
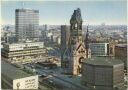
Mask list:
[[[71,44],[76,44],[77,42],[82,41],[82,17],[79,8],[74,10],[71,17],[70,32]]]

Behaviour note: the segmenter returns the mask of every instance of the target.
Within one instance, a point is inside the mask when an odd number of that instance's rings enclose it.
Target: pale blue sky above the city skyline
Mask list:
[[[24,3],[24,5],[23,5]],[[127,24],[126,0],[2,0],[1,24],[15,24],[15,9],[39,10],[39,24],[69,24],[73,11],[81,9],[83,24]]]

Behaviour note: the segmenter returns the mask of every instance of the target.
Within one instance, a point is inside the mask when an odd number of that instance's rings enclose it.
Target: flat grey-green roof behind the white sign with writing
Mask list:
[[[3,60],[1,60],[1,73],[11,80],[32,76],[32,74],[28,74]]]

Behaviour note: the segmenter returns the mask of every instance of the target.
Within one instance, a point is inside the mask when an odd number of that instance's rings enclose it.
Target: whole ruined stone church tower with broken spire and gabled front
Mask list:
[[[82,17],[78,8],[70,20],[70,37],[68,47],[63,54],[62,68],[64,73],[79,75],[81,73],[81,64],[85,60],[86,54],[90,57],[90,52],[86,50],[82,38]]]

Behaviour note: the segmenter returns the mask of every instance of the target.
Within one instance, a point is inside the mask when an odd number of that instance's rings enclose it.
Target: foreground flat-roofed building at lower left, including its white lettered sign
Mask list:
[[[1,61],[1,86],[7,90],[38,89],[38,75],[27,73],[14,65]]]

